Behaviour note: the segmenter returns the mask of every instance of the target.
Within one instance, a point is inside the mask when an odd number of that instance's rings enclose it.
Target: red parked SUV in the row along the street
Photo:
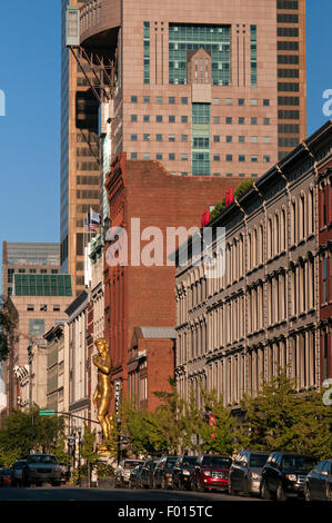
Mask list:
[[[231,464],[232,460],[229,456],[201,454],[192,474],[192,490],[199,492],[211,489],[228,490]]]

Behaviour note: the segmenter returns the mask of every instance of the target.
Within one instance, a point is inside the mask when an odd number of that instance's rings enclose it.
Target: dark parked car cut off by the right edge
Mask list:
[[[332,460],[321,461],[306,475],[304,497],[306,501],[332,501]]]

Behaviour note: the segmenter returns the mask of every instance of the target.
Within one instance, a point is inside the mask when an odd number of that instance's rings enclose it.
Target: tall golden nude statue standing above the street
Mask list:
[[[98,384],[93,395],[93,405],[98,411],[97,418],[100,423],[103,437],[109,440],[113,430],[112,416],[109,415],[112,361],[107,339],[98,338],[94,345],[98,354],[92,356],[92,362],[98,368]]]

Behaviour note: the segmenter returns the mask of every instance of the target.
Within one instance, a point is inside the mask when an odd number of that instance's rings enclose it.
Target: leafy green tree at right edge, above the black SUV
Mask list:
[[[242,408],[245,417],[238,432],[242,446],[308,453],[318,460],[331,454],[331,409],[322,393],[299,393],[285,372],[263,382],[255,397],[244,396]]]

